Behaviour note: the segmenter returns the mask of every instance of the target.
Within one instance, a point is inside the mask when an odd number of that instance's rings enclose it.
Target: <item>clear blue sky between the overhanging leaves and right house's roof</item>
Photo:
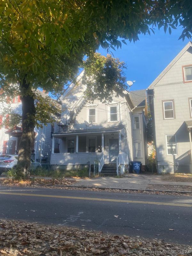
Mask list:
[[[178,40],[182,29],[172,29],[172,34],[164,33],[164,29],[156,29],[155,35],[140,36],[140,41],[135,43],[122,43],[122,49],[112,50],[114,57],[127,64],[125,74],[127,80],[136,80],[131,91],[146,89],[163,69],[189,42],[188,38]],[[107,51],[100,47],[99,51],[106,55]]]

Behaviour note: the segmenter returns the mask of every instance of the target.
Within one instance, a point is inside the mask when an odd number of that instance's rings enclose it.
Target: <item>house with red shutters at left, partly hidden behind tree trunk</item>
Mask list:
[[[44,92],[41,92],[41,94],[43,97],[46,95]],[[22,104],[20,97],[14,97],[10,103],[12,112],[21,115]],[[6,105],[6,102],[2,103],[2,106],[0,105],[0,122],[3,118],[6,118],[1,115],[3,105]],[[57,122],[54,124],[43,124],[42,128],[35,127],[33,149],[31,152],[31,158],[33,160],[41,163],[50,163],[52,152],[52,133],[57,131],[59,131]],[[19,152],[21,135],[21,126],[15,126],[13,129],[9,129],[8,127],[0,127],[0,155],[17,155]],[[59,140],[54,141],[54,151],[59,151]]]

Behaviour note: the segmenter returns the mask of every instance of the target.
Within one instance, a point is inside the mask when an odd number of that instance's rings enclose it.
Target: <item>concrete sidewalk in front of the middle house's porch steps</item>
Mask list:
[[[127,174],[126,178],[99,177],[95,179],[79,179],[74,186],[146,189],[151,184],[192,186],[192,182],[163,181],[161,180],[161,175],[137,175],[131,173]]]

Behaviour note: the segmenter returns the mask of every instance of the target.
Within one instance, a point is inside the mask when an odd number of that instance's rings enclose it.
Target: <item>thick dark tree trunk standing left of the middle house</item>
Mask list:
[[[20,177],[29,179],[31,166],[31,150],[33,147],[35,114],[33,92],[26,80],[20,84],[22,102],[22,136],[19,145],[17,172]]]

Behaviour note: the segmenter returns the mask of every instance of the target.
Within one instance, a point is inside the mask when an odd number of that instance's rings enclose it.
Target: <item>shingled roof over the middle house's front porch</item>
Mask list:
[[[119,124],[117,126],[113,127],[102,127],[102,128],[87,128],[86,129],[71,129],[67,131],[60,131],[57,133],[53,133],[52,135],[68,135],[68,134],[86,134],[86,133],[106,133],[106,132],[123,132],[124,130],[124,125]],[[124,133],[124,132],[123,132]]]

